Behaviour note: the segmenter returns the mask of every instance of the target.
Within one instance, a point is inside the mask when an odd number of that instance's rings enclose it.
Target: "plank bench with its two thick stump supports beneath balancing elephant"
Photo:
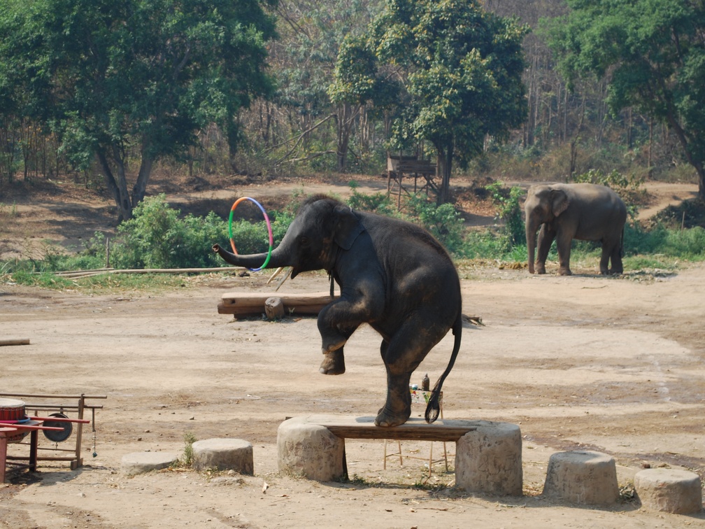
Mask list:
[[[317,481],[348,476],[345,439],[455,442],[455,483],[470,492],[522,494],[522,439],[517,425],[485,420],[410,418],[403,425],[374,425],[374,417],[307,415],[279,425],[279,470]]]

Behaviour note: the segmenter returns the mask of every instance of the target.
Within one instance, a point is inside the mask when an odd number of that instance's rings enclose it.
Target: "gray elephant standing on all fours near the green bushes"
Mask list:
[[[524,202],[526,214],[529,272],[546,273],[546,258],[553,239],[558,248],[558,274],[569,276],[572,239],[601,241],[601,274],[621,274],[624,225],[627,208],[623,200],[606,186],[592,183],[536,184],[529,188]],[[536,268],[534,250],[537,246]],[[608,265],[611,264],[611,267]]]

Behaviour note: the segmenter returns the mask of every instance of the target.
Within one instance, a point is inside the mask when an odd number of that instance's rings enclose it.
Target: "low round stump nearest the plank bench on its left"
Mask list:
[[[253,475],[252,444],[243,439],[204,439],[192,445],[195,470],[235,470]]]

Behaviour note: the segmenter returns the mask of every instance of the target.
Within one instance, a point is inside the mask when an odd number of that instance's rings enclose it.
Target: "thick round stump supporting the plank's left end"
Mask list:
[[[345,440],[328,428],[295,417],[279,425],[276,434],[280,472],[303,475],[309,480],[333,481],[345,473]]]

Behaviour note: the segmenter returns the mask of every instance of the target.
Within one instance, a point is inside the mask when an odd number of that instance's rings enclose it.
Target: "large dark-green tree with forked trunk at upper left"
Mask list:
[[[272,92],[266,4],[276,0],[0,0],[11,42],[0,62],[23,56],[61,149],[79,169],[97,160],[126,220],[154,163],[183,156],[208,123],[235,152],[238,110]]]

